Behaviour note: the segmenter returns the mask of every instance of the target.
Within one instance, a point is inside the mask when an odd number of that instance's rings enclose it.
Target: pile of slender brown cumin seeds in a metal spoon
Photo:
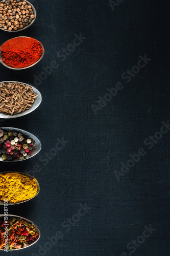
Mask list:
[[[35,98],[30,86],[18,82],[2,82],[0,84],[0,113],[14,115],[28,110]]]

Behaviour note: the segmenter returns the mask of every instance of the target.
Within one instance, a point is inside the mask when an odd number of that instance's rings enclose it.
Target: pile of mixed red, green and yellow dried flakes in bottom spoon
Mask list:
[[[6,223],[7,222],[7,223]],[[8,224],[8,225],[7,225]],[[20,249],[33,243],[38,239],[36,227],[22,220],[11,218],[9,221],[0,220],[0,249],[5,249],[5,228],[8,227],[8,249]]]

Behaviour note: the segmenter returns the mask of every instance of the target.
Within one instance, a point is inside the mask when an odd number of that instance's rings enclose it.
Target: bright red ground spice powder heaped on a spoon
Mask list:
[[[42,55],[41,43],[30,37],[16,37],[1,46],[3,62],[12,68],[33,65]]]

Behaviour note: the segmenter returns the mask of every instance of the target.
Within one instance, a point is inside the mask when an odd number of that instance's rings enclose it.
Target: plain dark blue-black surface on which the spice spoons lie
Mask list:
[[[36,22],[19,33],[0,31],[0,43],[30,36],[42,42],[44,57],[22,71],[1,65],[0,80],[32,84],[41,92],[42,103],[28,116],[2,120],[1,126],[33,133],[42,150],[27,161],[1,163],[1,171],[31,174],[38,164],[39,195],[10,206],[9,214],[33,221],[41,238],[30,248],[11,253],[169,256],[169,132],[151,150],[143,144],[160,131],[162,121],[169,120],[169,2],[125,0],[114,11],[104,0],[31,3],[37,10]],[[57,52],[81,32],[86,39],[61,61]],[[122,74],[145,54],[152,60],[126,83]],[[52,60],[59,67],[36,86],[35,75]],[[99,96],[104,97],[116,82],[122,82],[124,89],[95,115],[91,104],[98,104]],[[63,137],[69,143],[57,156],[47,164],[40,161]],[[140,147],[147,154],[118,181],[114,171],[120,171],[121,162]],[[91,209],[66,231],[62,222],[77,214],[80,204]],[[3,206],[0,210],[3,213]],[[131,254],[127,244],[150,224],[156,230]],[[39,254],[39,246],[44,247],[57,230],[63,238]]]

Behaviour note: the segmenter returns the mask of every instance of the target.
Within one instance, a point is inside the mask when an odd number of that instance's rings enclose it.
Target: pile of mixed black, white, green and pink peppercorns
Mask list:
[[[0,129],[0,156],[4,161],[27,158],[34,145],[33,139],[23,137],[21,133]]]

